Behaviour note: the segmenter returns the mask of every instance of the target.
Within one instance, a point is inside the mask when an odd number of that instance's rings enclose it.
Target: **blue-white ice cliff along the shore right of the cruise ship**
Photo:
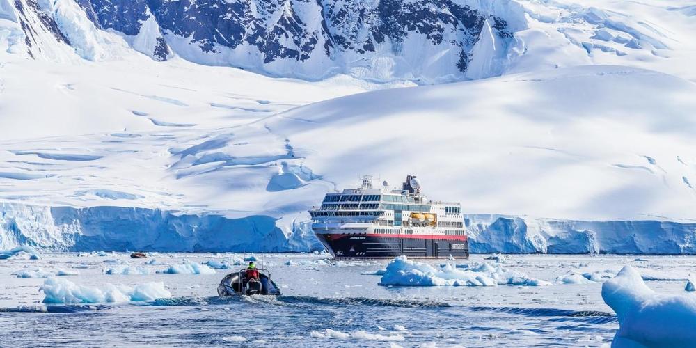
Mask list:
[[[465,216],[473,253],[694,254],[696,223]]]

